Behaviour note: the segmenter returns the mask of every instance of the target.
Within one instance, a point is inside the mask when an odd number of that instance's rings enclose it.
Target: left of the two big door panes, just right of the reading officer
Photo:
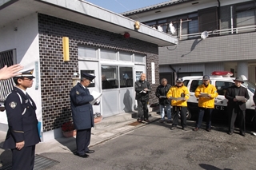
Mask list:
[[[118,66],[102,65],[102,89],[118,88]]]

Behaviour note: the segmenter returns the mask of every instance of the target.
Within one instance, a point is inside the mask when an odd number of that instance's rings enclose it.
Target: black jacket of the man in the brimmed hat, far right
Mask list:
[[[233,109],[235,108],[236,105],[239,105],[239,108],[241,110],[246,110],[246,103],[243,103],[242,101],[234,101],[235,98],[235,91],[234,89],[237,88],[235,85],[231,86],[229,89],[226,90],[226,99],[229,100],[227,102],[227,108],[228,109]],[[246,88],[240,86],[240,91],[238,96],[246,97],[248,100],[250,98],[248,91]]]

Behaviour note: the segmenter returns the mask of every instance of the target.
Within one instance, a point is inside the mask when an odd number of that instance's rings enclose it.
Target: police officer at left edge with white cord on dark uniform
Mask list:
[[[5,108],[8,119],[8,132],[3,148],[10,148],[13,154],[12,169],[33,169],[35,144],[38,144],[37,109],[26,89],[32,87],[33,71],[22,72],[14,77],[16,86],[6,97]]]

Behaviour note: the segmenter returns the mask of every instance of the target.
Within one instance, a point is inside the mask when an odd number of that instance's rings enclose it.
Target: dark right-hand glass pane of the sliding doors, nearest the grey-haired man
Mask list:
[[[133,68],[132,67],[120,67],[120,88],[124,87],[133,87],[134,80],[133,80]]]

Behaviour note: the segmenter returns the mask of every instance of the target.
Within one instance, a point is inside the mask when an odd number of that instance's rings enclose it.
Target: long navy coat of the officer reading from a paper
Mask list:
[[[89,89],[78,83],[70,91],[70,100],[74,128],[82,130],[94,127],[94,111],[89,103],[94,97],[90,95]]]

